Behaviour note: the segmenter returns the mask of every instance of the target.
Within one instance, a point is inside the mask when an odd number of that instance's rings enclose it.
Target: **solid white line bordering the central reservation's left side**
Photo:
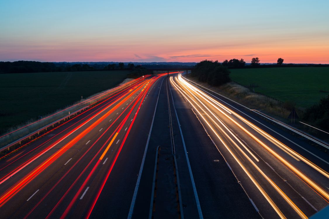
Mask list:
[[[160,87],[162,86],[162,83],[163,82],[164,82],[164,79],[162,79],[162,82],[161,82]],[[136,186],[135,186],[135,191],[134,191],[134,194],[133,194],[133,199],[131,200],[131,205],[130,205],[130,208],[129,208],[129,213],[128,213],[128,217],[127,217],[128,219],[131,219],[131,217],[133,216],[133,211],[134,211],[135,202],[136,202],[136,198],[137,198],[137,192],[138,192],[138,188],[139,188],[140,177],[141,177],[142,172],[143,172],[143,167],[144,167],[146,152],[147,152],[148,143],[149,143],[150,137],[151,137],[151,132],[152,132],[154,118],[155,118],[155,112],[157,111],[159,97],[160,97],[160,90],[159,90],[159,94],[158,94],[157,103],[155,104],[155,109],[154,109],[154,113],[153,113],[153,119],[152,119],[152,123],[151,123],[150,132],[148,133],[148,138],[147,138],[146,145],[145,145],[145,151],[144,151],[142,163],[140,164],[140,168],[139,168],[139,174],[138,174],[138,178],[137,178],[137,182],[136,182]]]

